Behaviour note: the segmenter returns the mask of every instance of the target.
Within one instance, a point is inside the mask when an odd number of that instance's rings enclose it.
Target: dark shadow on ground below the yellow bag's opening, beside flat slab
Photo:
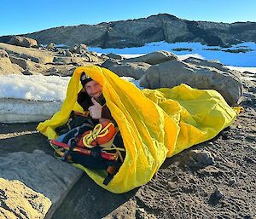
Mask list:
[[[128,193],[109,193],[84,174],[67,194],[52,219],[102,218],[125,204],[136,192],[137,188]]]

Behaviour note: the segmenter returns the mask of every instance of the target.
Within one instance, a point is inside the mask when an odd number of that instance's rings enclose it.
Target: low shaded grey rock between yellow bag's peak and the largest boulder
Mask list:
[[[143,62],[118,62],[118,61],[105,61],[102,67],[115,72],[119,76],[129,76],[135,79],[142,78],[146,73],[149,64]]]

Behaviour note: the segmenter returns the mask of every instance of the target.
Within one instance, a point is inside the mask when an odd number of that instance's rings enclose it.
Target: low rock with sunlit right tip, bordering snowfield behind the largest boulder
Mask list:
[[[157,51],[136,58],[126,59],[127,62],[146,62],[150,65],[160,64],[165,61],[177,60],[177,55],[168,51]]]

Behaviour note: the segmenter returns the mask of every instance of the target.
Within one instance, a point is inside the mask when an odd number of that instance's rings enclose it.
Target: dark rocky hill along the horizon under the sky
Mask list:
[[[138,47],[145,43],[166,41],[200,42],[221,47],[242,42],[256,43],[256,22],[218,23],[183,20],[171,14],[148,18],[104,22],[97,25],[60,26],[20,36],[32,37],[38,43],[73,45],[84,43],[92,47]],[[0,37],[6,43],[11,36]]]

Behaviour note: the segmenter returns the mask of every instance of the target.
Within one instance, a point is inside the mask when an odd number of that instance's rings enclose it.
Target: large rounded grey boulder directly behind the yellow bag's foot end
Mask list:
[[[230,106],[236,105],[242,93],[241,79],[236,72],[224,66],[217,68],[210,65],[166,61],[149,67],[140,85],[157,89],[172,88],[184,83],[197,89],[215,89],[224,96]]]

